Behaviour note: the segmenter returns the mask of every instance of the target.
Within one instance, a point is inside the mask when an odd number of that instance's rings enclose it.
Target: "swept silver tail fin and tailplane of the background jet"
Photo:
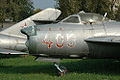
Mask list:
[[[0,34],[26,38],[26,36],[20,32],[21,29],[27,26],[34,26],[37,24],[41,24],[41,21],[43,22],[55,21],[60,14],[61,11],[58,9],[47,8],[1,31]],[[36,23],[35,20],[39,21],[40,23],[38,22]]]

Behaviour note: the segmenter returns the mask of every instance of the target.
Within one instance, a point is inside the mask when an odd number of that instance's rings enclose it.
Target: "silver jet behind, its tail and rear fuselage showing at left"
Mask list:
[[[23,35],[20,30],[27,26],[33,26],[38,24],[48,24],[55,21],[61,11],[58,9],[47,8],[41,12],[38,12],[25,20],[18,22],[17,24],[0,32],[0,53],[2,54],[27,54],[25,42],[26,36]],[[22,52],[19,52],[22,51]]]

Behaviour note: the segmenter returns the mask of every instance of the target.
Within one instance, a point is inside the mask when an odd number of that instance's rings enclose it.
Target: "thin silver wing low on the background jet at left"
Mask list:
[[[28,54],[28,53],[19,52],[19,51],[14,51],[14,50],[8,50],[8,49],[0,49],[0,54],[16,54],[16,55],[23,55],[23,54]]]

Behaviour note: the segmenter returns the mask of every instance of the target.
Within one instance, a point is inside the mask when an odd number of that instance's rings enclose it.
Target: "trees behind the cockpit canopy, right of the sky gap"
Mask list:
[[[116,15],[116,2],[117,0],[56,0],[57,8],[60,9],[63,14],[62,18],[73,13],[78,13],[83,10],[85,12],[93,12],[104,14],[108,13],[108,18],[115,19]]]

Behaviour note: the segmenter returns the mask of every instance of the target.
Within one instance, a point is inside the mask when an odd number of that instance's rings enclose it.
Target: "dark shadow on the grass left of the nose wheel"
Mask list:
[[[30,65],[30,66],[0,66],[0,73],[5,74],[49,74],[55,75],[52,64]]]

